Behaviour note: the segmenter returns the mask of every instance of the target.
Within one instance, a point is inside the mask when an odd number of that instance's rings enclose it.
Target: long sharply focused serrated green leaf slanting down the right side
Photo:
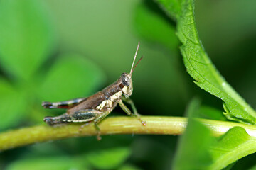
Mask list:
[[[199,87],[224,101],[227,118],[256,124],[255,111],[225,81],[204,51],[196,30],[194,1],[183,0],[181,11],[177,35],[183,44],[181,53],[188,73]]]

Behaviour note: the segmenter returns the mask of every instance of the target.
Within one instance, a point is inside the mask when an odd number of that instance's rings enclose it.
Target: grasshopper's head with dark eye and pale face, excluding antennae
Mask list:
[[[121,74],[120,80],[121,82],[119,86],[122,89],[122,94],[131,96],[133,90],[131,75],[128,73],[123,73]]]

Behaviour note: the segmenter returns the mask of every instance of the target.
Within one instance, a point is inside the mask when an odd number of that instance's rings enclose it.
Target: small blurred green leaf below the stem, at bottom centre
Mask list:
[[[126,147],[107,149],[87,154],[87,161],[96,169],[117,169],[131,154]]]

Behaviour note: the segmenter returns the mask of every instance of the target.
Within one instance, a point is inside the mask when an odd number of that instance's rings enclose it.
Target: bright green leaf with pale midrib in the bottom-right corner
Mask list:
[[[210,147],[213,164],[209,169],[223,169],[238,159],[256,152],[256,138],[247,134],[244,128],[234,127]]]

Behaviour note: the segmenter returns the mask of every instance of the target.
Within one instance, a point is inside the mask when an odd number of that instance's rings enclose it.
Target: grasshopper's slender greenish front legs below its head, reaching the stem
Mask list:
[[[124,103],[122,101],[125,101],[127,103],[129,103],[131,106],[132,106],[132,111],[134,111],[134,113],[132,114],[132,112],[129,110],[129,108],[127,108],[127,106],[124,105]],[[127,113],[127,115],[131,115],[133,117],[136,117],[141,123],[142,125],[146,125],[146,121],[142,120],[140,118],[140,115],[139,113],[137,112],[137,109],[135,108],[135,105],[132,101],[132,99],[130,99],[128,96],[126,97],[123,97],[122,96],[122,99],[118,101],[119,103],[119,106],[122,108],[122,110]]]

